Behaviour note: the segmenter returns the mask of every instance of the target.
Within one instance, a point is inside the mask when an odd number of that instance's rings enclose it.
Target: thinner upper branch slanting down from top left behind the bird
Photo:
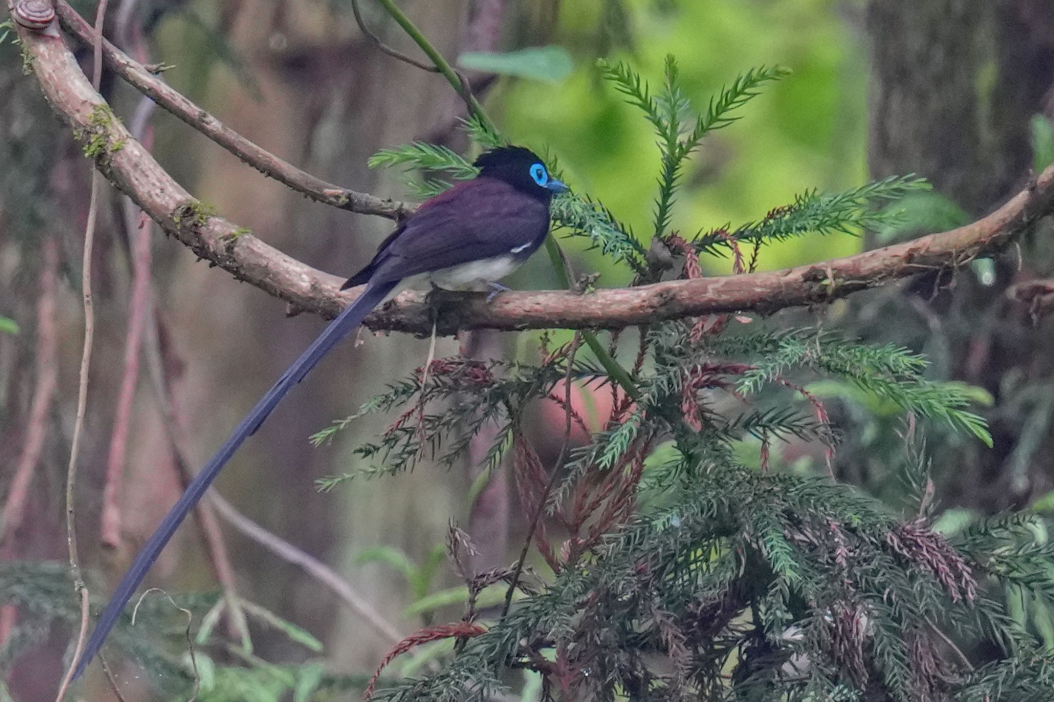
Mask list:
[[[85,46],[93,45],[95,29],[73,7],[66,4],[64,0],[56,2],[56,13],[62,26],[67,32],[71,32]],[[378,215],[389,219],[401,219],[415,209],[412,204],[386,200],[368,193],[349,190],[348,188],[328,183],[320,178],[300,171],[266,148],[249,141],[234,129],[225,126],[222,122],[191,102],[181,93],[173,89],[163,80],[152,75],[141,63],[105,40],[102,42],[102,58],[108,68],[126,80],[130,85],[148,96],[162,108],[209,137],[265,176],[274,178],[279,183],[288,185],[290,188],[301,195],[306,195],[312,200],[339,207],[340,209],[348,209],[364,215]]]

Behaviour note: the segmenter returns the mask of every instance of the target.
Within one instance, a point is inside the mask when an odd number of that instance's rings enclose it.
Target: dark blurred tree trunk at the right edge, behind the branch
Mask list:
[[[1052,114],[1054,4],[872,0],[867,29],[874,178],[918,173],[971,216],[1024,185],[1030,119]],[[901,341],[939,341],[948,376],[987,388],[996,401],[983,413],[994,450],[959,442],[933,452],[949,506],[993,512],[1054,485],[1054,324],[1034,325],[1024,305],[1006,295],[1014,282],[1050,276],[1054,255],[1042,243],[1050,236],[1042,223],[1018,252],[1003,255],[992,285],[964,266],[940,280],[922,277],[909,292],[915,302],[905,299],[905,317],[918,318],[921,308],[923,319],[914,336],[906,324]]]

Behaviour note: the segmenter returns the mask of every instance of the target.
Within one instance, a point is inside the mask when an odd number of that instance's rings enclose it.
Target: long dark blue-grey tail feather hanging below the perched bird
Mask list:
[[[281,375],[278,382],[267,392],[256,406],[252,408],[249,415],[241,420],[237,428],[231,437],[220,446],[219,450],[216,452],[215,456],[209,460],[206,466],[201,469],[191,484],[187,486],[187,490],[182,494],[176,504],[172,507],[161,524],[154,531],[150,540],[136,556],[135,562],[129,571],[124,574],[124,578],[118,583],[117,589],[114,590],[114,595],[106,605],[105,610],[102,616],[99,617],[98,623],[95,625],[95,630],[92,631],[91,638],[87,640],[87,644],[84,646],[84,651],[80,656],[80,660],[77,661],[77,667],[74,670],[74,679],[78,678],[87,667],[87,664],[95,658],[95,655],[99,653],[102,647],[102,642],[105,641],[106,635],[117,623],[118,618],[124,610],[124,605],[132,598],[132,595],[139,587],[139,583],[147,576],[147,571],[150,566],[153,565],[154,561],[157,560],[158,555],[164,545],[175,534],[179,524],[187,517],[187,514],[197,504],[198,500],[209,488],[209,485],[215,479],[216,475],[219,473],[220,468],[227,464],[231,456],[237,450],[241,443],[256,433],[264,420],[267,419],[271,410],[275,408],[281,398],[293,387],[296,383],[308,375],[308,372],[315,366],[318,361],[336,345],[340,339],[348,335],[349,332],[354,329],[358,324],[366,318],[370,312],[376,307],[385,299],[392,289],[395,288],[396,283],[382,283],[379,285],[369,285],[358,298],[352,302],[348,307],[340,313],[340,315],[330,322],[330,325],[318,336],[314,342],[308,346],[308,349],[300,354],[300,357],[293,362],[289,369]]]

